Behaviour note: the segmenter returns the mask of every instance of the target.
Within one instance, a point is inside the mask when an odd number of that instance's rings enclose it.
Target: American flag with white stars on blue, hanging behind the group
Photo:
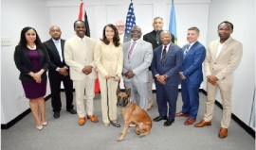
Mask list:
[[[131,29],[134,25],[136,25],[136,17],[134,13],[134,5],[133,5],[133,2],[131,1],[131,4],[128,8],[127,17],[126,17],[123,42],[129,42],[131,40]]]

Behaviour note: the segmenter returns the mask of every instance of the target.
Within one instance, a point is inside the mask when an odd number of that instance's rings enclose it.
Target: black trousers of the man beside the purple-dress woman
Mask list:
[[[58,73],[57,73],[58,74]],[[73,81],[70,76],[57,75],[49,73],[50,91],[51,91],[51,106],[54,112],[61,111],[61,83],[64,83],[64,92],[66,100],[66,109],[73,108]]]

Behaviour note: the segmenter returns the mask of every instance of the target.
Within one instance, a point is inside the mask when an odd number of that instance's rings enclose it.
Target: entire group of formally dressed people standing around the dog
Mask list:
[[[35,119],[36,128],[42,129],[46,122],[45,100],[46,71],[51,89],[53,117],[58,119],[62,109],[61,82],[64,83],[66,111],[78,114],[79,125],[86,118],[99,122],[94,114],[95,79],[101,85],[101,113],[104,126],[110,121],[117,123],[117,89],[123,78],[125,89],[131,89],[133,103],[145,110],[153,107],[152,84],[155,80],[156,104],[159,115],[155,122],[165,120],[164,125],[174,123],[175,117],[188,117],[184,125],[193,125],[199,108],[199,88],[203,81],[202,63],[208,79],[208,96],[204,120],[195,127],[211,125],[217,89],[223,101],[223,120],[220,138],[228,136],[231,115],[231,91],[233,72],[238,67],[243,48],[230,37],[233,25],[218,25],[220,39],[210,42],[208,52],[198,42],[199,29],[188,29],[187,41],[182,48],[174,43],[174,35],[163,30],[163,19],[155,17],[154,30],[142,37],[141,28],[133,26],[131,41],[122,43],[124,23],[105,25],[100,41],[85,36],[84,22],[74,23],[76,34],[64,41],[59,26],[49,28],[51,39],[41,42],[36,30],[25,27],[15,48],[14,60],[20,71],[20,80]],[[181,83],[182,110],[176,113],[178,85]],[[73,86],[76,107],[73,106]],[[84,104],[85,101],[85,104]]]

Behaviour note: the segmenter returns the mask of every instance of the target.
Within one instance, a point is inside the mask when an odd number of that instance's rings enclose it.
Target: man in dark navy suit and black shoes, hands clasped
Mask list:
[[[172,36],[169,31],[162,31],[160,39],[162,45],[155,48],[151,65],[159,112],[159,116],[155,117],[153,121],[166,120],[164,125],[169,126],[174,123],[175,118],[183,52],[180,47],[171,42]],[[168,112],[169,114],[167,114]]]

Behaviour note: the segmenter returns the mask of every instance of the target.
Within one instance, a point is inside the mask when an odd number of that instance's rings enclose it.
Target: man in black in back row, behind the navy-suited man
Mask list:
[[[160,41],[160,33],[163,28],[163,19],[161,17],[155,17],[153,22],[154,30],[147,33],[143,36],[143,41],[152,43],[153,50],[162,44]],[[172,42],[174,42],[174,35],[172,35]],[[149,104],[148,109],[151,109],[154,105],[153,103],[153,95],[152,95],[152,84],[154,82],[154,79],[152,77],[151,67],[149,67],[149,83],[148,83],[148,93],[149,93]]]

